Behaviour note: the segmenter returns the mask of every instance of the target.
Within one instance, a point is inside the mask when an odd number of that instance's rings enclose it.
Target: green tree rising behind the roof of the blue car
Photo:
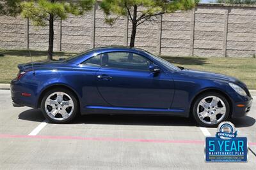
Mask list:
[[[198,0],[102,0],[100,7],[106,14],[108,24],[113,24],[120,16],[126,16],[131,20],[130,46],[133,47],[138,25],[163,13],[189,10],[197,3]],[[113,18],[111,14],[115,14],[117,17]]]

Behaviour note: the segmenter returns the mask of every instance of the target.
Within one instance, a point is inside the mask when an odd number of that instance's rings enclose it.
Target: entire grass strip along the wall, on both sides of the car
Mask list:
[[[74,54],[76,53],[54,52],[53,58],[66,58]],[[47,52],[31,50],[31,56],[33,61],[46,60]],[[253,57],[162,57],[176,66],[234,76],[246,83],[249,89],[256,89],[256,59]],[[28,50],[0,51],[0,83],[10,83],[10,81],[17,75],[17,64],[30,61],[31,59]]]

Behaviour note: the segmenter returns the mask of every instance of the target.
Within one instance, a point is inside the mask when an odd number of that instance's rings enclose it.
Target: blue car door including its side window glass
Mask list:
[[[164,73],[152,73],[152,61],[131,52],[100,54],[97,87],[105,101],[116,107],[170,108],[174,85]]]

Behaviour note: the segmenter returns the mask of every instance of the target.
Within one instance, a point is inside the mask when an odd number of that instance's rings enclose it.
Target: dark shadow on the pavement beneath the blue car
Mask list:
[[[23,111],[19,119],[33,122],[45,120],[42,112],[36,109]],[[231,122],[236,127],[250,127],[255,124],[255,118],[246,116],[234,118]],[[191,118],[170,115],[83,115],[76,117],[70,124],[198,126]]]

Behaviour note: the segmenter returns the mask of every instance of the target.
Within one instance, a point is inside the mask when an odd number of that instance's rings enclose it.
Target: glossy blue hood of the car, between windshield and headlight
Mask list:
[[[224,74],[211,73],[207,71],[198,71],[193,69],[183,69],[181,73],[186,74],[187,76],[194,76],[195,78],[202,78],[215,81],[226,81],[227,83],[236,83],[242,87],[246,87],[246,85],[242,81],[239,81],[237,78],[234,78],[232,76],[226,76]]]

